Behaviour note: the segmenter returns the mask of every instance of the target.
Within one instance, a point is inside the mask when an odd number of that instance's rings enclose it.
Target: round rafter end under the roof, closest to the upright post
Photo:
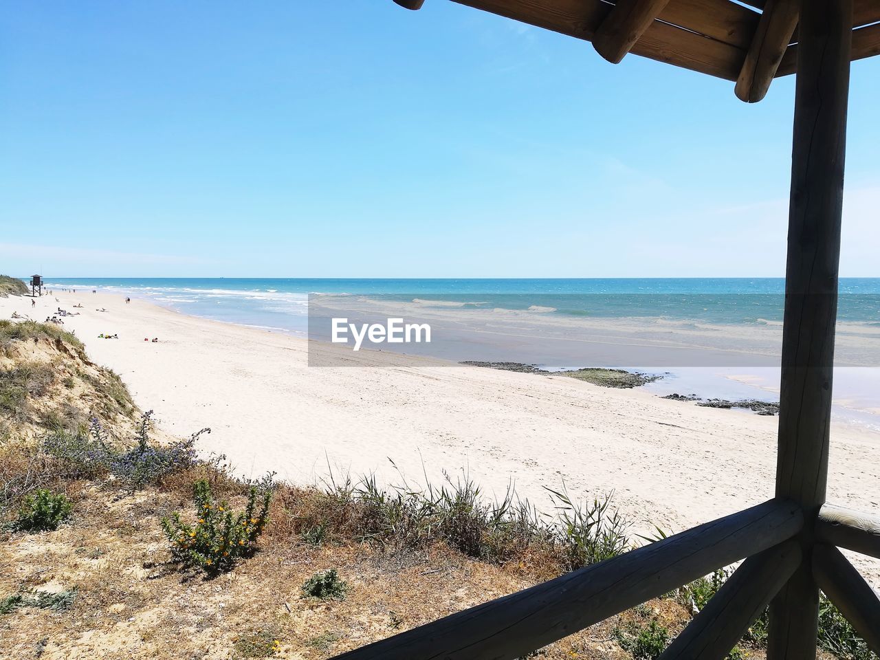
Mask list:
[[[766,96],[791,43],[799,11],[800,0],[767,0],[737,77],[737,99],[757,103]]]

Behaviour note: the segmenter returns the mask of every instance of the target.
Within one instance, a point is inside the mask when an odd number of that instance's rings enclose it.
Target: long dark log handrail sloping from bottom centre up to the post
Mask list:
[[[778,545],[802,527],[799,507],[771,500],[338,657],[512,660]]]

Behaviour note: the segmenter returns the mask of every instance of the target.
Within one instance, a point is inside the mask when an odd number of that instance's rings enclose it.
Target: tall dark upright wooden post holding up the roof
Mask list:
[[[810,547],[825,502],[853,0],[802,0],[776,494],[803,506],[804,562],[771,605],[768,660],[816,656]]]

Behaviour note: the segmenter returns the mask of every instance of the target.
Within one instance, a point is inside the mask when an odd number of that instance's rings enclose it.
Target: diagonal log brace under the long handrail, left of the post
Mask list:
[[[659,660],[724,660],[801,564],[787,541],[745,560]]]

